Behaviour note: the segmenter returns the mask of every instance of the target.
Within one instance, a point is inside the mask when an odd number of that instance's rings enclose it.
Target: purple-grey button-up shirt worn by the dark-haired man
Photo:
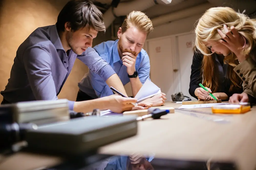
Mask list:
[[[82,55],[64,50],[56,25],[37,28],[19,46],[4,91],[4,99],[14,103],[33,100],[57,100],[63,84],[78,58],[106,81],[115,74],[112,67],[93,48]],[[74,101],[69,101],[73,110]]]

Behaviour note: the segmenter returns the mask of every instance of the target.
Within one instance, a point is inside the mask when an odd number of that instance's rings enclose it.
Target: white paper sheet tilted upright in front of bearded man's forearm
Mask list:
[[[137,103],[139,103],[145,99],[155,96],[158,93],[161,93],[161,89],[152,81],[147,79],[134,98],[136,98]]]

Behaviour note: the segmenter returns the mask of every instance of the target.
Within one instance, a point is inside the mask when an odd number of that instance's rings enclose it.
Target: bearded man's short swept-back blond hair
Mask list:
[[[125,17],[121,26],[122,33],[124,33],[130,27],[135,27],[147,33],[147,35],[154,29],[151,20],[145,13],[141,11],[132,11]]]

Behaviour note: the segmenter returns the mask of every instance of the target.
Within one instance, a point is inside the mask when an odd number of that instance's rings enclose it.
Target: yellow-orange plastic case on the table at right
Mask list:
[[[211,107],[212,113],[242,114],[251,110],[250,103],[220,104]]]

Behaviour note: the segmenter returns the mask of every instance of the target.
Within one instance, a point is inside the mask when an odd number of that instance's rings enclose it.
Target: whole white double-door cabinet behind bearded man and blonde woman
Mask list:
[[[154,38],[146,41],[150,57],[150,79],[170,101],[171,95],[188,93],[195,36],[192,33]],[[192,98],[194,99],[194,98]]]

